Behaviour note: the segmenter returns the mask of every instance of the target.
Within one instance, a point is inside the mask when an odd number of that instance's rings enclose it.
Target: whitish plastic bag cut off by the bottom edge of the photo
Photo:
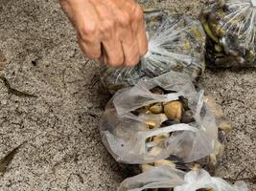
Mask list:
[[[124,180],[118,191],[146,191],[158,189],[170,191],[248,191],[244,181],[234,185],[217,177],[211,177],[203,169],[192,170],[188,173],[173,169],[169,166],[153,167],[143,174]]]

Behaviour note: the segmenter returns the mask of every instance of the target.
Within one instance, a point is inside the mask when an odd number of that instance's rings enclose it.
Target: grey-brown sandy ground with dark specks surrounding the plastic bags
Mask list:
[[[203,6],[202,0],[141,2],[193,16]],[[12,87],[37,96],[10,95],[0,81],[0,158],[27,141],[0,178],[0,190],[115,190],[123,175],[99,137],[105,105],[99,65],[82,56],[58,2],[1,0],[0,50]],[[207,71],[200,81],[234,127],[218,170],[222,178],[255,176],[255,72]]]

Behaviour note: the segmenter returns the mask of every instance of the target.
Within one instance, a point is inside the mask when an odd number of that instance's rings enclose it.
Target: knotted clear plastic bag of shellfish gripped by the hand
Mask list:
[[[146,13],[149,51],[134,68],[107,67],[103,82],[109,92],[135,85],[140,79],[170,71],[198,78],[205,68],[205,33],[197,20],[163,11]]]

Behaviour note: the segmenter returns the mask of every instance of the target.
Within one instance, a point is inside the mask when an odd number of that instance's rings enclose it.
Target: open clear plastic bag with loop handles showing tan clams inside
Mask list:
[[[151,89],[161,87],[173,92],[156,95]],[[147,116],[135,116],[131,112],[156,102],[169,102],[183,96],[195,118],[194,122],[178,123],[159,128],[165,120],[151,117],[157,128],[149,129]],[[128,164],[151,163],[167,159],[170,155],[185,162],[202,159],[214,153],[218,139],[215,117],[206,106],[203,92],[197,92],[190,77],[169,72],[147,81],[139,81],[132,88],[119,91],[109,101],[100,124],[102,140],[108,152],[119,162]],[[173,133],[170,138],[148,142],[149,138]]]

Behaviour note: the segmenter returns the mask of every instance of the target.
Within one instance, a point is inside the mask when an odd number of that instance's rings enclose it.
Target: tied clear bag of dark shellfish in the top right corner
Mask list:
[[[200,21],[210,67],[256,67],[255,0],[211,0]]]

